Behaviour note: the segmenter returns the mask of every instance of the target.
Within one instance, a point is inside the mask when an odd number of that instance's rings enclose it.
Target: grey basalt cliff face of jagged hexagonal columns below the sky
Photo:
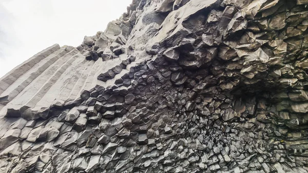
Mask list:
[[[133,0],[0,79],[0,172],[307,172],[307,5]]]

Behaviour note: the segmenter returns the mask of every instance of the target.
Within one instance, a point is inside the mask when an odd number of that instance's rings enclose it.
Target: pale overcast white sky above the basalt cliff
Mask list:
[[[131,0],[0,0],[0,78],[41,50],[78,46],[104,31]]]

